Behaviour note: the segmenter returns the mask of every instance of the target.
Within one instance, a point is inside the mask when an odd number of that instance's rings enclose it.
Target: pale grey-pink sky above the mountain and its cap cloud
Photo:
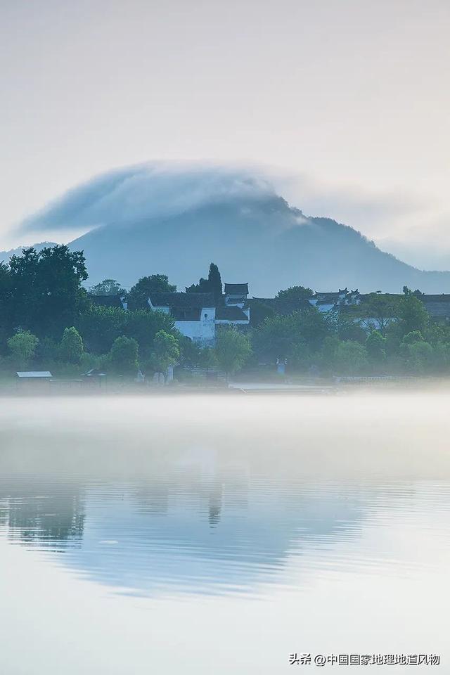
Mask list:
[[[447,0],[0,8],[0,249],[91,176],[181,160],[263,167],[304,213],[450,269]]]

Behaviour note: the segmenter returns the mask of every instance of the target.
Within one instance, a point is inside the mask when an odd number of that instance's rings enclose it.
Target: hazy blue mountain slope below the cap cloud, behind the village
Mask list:
[[[93,283],[117,278],[125,286],[162,272],[179,288],[217,261],[226,281],[249,281],[252,295],[305,285],[319,290],[359,288],[401,293],[449,293],[450,272],[420,271],[380,251],[354,229],[327,218],[306,218],[285,200],[205,205],[172,217],[109,224],[70,247],[86,255]]]

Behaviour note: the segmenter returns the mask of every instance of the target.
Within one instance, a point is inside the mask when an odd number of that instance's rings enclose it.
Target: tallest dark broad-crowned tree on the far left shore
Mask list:
[[[28,328],[38,336],[60,335],[75,324],[86,307],[82,281],[87,271],[82,251],[56,245],[37,252],[24,248],[9,262],[12,294],[10,320],[13,326]]]

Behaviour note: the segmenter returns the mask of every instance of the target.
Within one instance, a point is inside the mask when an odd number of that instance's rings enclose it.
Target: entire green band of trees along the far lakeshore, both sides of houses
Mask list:
[[[250,327],[217,327],[214,348],[202,349],[176,330],[171,316],[148,307],[151,293],[176,290],[167,276],[146,276],[128,291],[107,279],[89,293],[87,278],[82,252],[66,246],[25,249],[0,264],[4,368],[100,367],[131,375],[139,367],[150,375],[181,364],[235,373],[243,366],[273,371],[278,361],[286,372],[323,376],[450,369],[449,326],[431,321],[420,292],[408,288],[401,297],[371,293],[359,305],[329,312],[306,302],[309,288],[281,290],[270,301],[252,300]],[[186,290],[214,293],[219,304],[217,266]],[[120,297],[128,309],[105,307],[92,295]]]

